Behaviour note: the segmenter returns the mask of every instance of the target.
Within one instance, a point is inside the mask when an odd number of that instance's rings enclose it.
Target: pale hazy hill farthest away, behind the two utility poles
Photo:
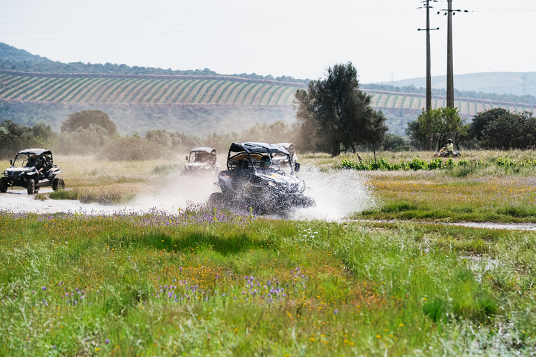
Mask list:
[[[382,82],[393,86],[426,87],[426,77],[403,79],[394,82]],[[475,91],[484,93],[507,93],[516,96],[523,95],[523,86],[526,94],[536,96],[536,72],[489,72],[454,75],[454,88],[459,91]],[[433,76],[432,87],[436,89],[447,88],[447,76]]]

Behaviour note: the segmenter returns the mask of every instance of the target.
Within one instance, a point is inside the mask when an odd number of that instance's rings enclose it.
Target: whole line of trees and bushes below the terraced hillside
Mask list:
[[[116,123],[101,110],[82,110],[61,123],[60,132],[38,123],[22,126],[11,120],[0,123],[0,156],[12,157],[29,147],[54,149],[71,155],[100,155],[110,160],[145,160],[184,153],[194,146],[225,151],[232,142],[293,142],[301,151],[339,155],[343,151],[424,149],[431,135],[435,149],[453,137],[456,146],[483,149],[530,149],[536,141],[532,113],[506,109],[480,112],[468,124],[458,109],[423,111],[405,128],[408,138],[387,132],[382,111],[372,109],[371,96],[359,89],[352,63],[327,68],[324,79],[309,82],[295,93],[297,121],[259,124],[241,132],[213,132],[204,139],[184,132],[149,129],[121,136]],[[244,128],[244,126],[236,126]]]

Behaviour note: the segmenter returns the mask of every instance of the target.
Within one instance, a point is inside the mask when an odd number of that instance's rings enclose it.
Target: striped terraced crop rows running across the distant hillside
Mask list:
[[[290,106],[295,83],[213,76],[17,73],[0,70],[0,100],[17,102],[118,103],[135,105]],[[303,86],[302,86],[303,87]],[[424,95],[368,90],[372,106],[420,112]],[[463,116],[497,107],[536,112],[536,105],[457,98]],[[445,106],[434,97],[433,107]]]

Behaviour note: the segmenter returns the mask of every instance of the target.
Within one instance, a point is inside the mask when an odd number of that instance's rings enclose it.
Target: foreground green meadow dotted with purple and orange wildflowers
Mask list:
[[[0,214],[0,355],[534,352],[535,234]]]

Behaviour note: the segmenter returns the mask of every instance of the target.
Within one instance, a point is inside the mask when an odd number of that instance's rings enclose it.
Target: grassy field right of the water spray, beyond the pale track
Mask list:
[[[375,162],[361,155],[364,165]],[[461,165],[398,171],[363,171],[378,206],[352,218],[377,220],[536,222],[534,151],[468,151]],[[417,159],[417,160],[415,160]],[[323,167],[359,162],[357,155],[304,155]],[[376,160],[403,167],[403,162],[431,162],[431,153],[377,153]],[[455,164],[461,160],[454,160]],[[339,165],[339,166],[337,166]],[[408,165],[406,165],[408,166]]]

